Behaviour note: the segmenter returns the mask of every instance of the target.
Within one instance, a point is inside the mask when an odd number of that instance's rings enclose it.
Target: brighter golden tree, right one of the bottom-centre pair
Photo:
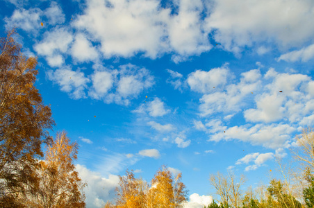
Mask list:
[[[151,187],[147,196],[147,207],[166,208],[182,207],[186,200],[187,191],[181,182],[181,173],[172,177],[166,166],[162,166],[151,180]]]

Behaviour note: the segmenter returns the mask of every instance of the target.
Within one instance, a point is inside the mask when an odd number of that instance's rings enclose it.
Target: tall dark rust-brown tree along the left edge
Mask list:
[[[54,125],[51,109],[34,86],[36,58],[26,58],[15,31],[0,39],[0,207],[23,207],[16,196],[35,189],[36,158]]]

